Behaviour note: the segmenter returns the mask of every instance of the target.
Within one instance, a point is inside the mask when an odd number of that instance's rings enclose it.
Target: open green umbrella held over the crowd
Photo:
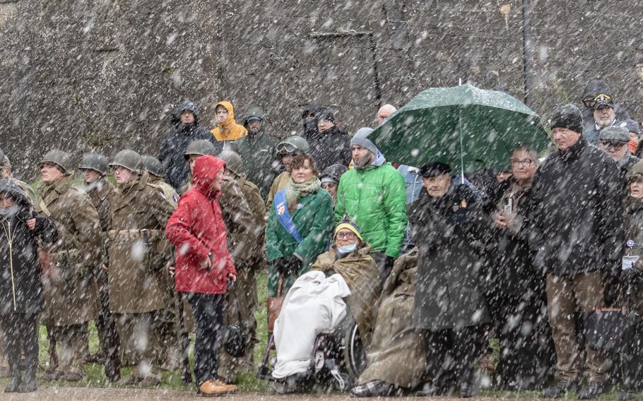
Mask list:
[[[388,160],[420,167],[444,162],[472,172],[506,169],[516,143],[551,144],[541,119],[512,95],[473,85],[430,88],[369,136]]]

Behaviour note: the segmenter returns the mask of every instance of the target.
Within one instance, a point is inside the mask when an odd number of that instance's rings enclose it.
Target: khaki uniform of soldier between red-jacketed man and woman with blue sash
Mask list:
[[[223,196],[219,198],[223,220],[228,227],[228,247],[235,259],[237,281],[225,299],[224,324],[239,321],[248,330],[249,343],[242,357],[233,358],[220,342],[219,374],[234,381],[240,371],[252,370],[252,358],[256,338],[257,307],[256,272],[264,267],[264,235],[266,210],[259,188],[247,181],[244,174],[231,178],[226,176],[222,185]]]

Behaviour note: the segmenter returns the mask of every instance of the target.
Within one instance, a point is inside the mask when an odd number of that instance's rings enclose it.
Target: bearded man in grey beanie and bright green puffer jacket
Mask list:
[[[406,229],[406,188],[401,174],[368,139],[372,132],[372,128],[360,128],[350,140],[355,168],[339,180],[335,220],[347,216],[361,228],[385,280]]]

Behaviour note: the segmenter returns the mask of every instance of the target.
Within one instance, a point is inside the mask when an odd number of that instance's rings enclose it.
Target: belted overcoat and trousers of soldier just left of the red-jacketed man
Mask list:
[[[110,208],[110,310],[124,352],[135,355],[139,363],[134,376],[160,378],[155,350],[160,347],[158,323],[167,306],[170,280],[164,268],[170,258],[165,223],[174,208],[148,182],[147,173],[117,188]]]

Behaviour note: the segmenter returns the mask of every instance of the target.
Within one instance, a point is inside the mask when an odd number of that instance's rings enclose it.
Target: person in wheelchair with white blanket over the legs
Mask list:
[[[331,378],[339,390],[348,390],[359,376],[382,290],[369,251],[355,223],[342,220],[331,249],[293,284],[275,325],[277,363],[272,376],[282,384],[278,391],[304,387],[290,383],[294,376]],[[290,384],[285,388],[283,383]]]

